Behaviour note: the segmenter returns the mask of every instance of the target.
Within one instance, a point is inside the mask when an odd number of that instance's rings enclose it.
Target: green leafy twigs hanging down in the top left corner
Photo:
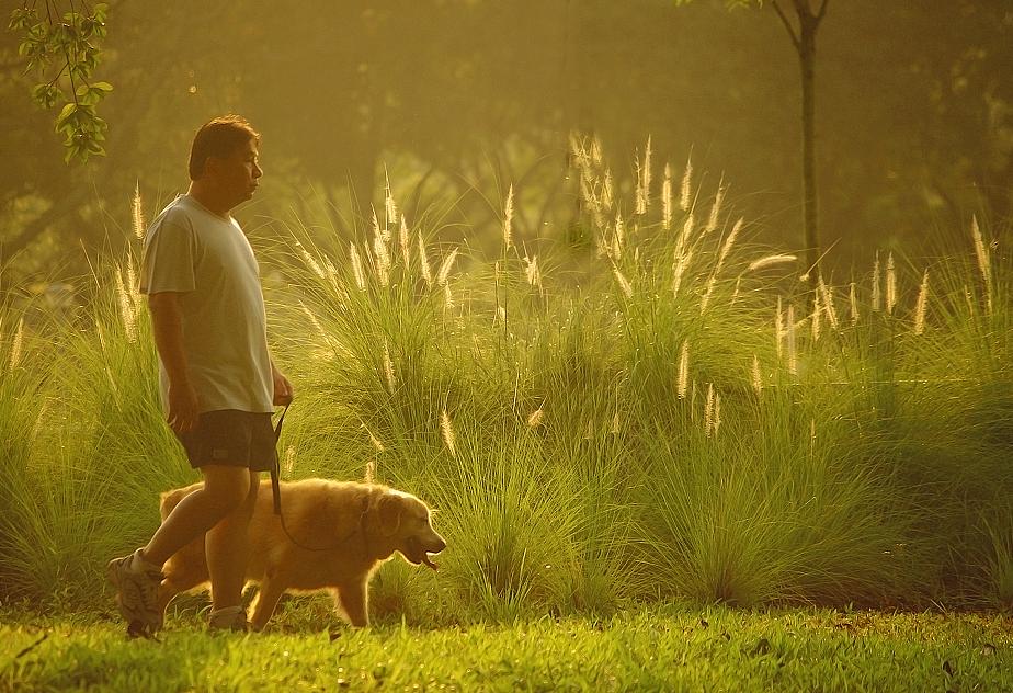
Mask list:
[[[22,38],[18,53],[25,60],[24,71],[35,71],[44,80],[32,88],[32,100],[46,110],[64,104],[56,116],[56,132],[64,136],[68,162],[105,155],[102,143],[109,126],[98,106],[113,87],[95,81],[94,71],[101,61],[107,16],[107,4],[89,7],[86,0],[78,9],[69,2],[67,12],[61,11],[59,0],[46,0],[45,16],[35,3],[29,7],[25,2],[11,11],[8,27]]]

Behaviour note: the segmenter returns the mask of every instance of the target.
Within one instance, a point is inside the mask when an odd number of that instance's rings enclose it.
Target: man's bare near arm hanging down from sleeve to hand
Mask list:
[[[148,296],[155,346],[169,376],[169,425],[182,433],[197,423],[197,394],[190,382],[183,353],[183,319],[178,292]]]

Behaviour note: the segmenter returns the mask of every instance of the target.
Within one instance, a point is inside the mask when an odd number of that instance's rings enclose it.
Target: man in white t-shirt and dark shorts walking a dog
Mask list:
[[[229,214],[253,196],[263,175],[259,144],[239,116],[201,127],[190,155],[189,192],[162,211],[145,237],[140,291],[148,295],[162,402],[204,488],[175,507],[147,546],[109,565],[132,635],[161,628],[161,567],[205,533],[209,625],[246,629],[247,530],[260,472],[276,461],[271,414],[293,397],[268,352],[257,260]]]

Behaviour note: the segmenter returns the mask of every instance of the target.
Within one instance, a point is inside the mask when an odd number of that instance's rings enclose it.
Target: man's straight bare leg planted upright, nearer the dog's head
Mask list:
[[[247,488],[243,501],[207,532],[205,552],[212,581],[212,606],[215,612],[239,607],[246,584],[250,554],[250,519],[257,503],[260,473],[239,469]]]

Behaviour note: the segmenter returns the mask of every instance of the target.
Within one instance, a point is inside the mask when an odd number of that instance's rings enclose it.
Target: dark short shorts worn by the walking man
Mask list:
[[[195,469],[204,465],[227,465],[270,472],[277,461],[270,413],[236,409],[205,411],[195,428],[177,433],[177,438],[186,451],[190,466]]]

